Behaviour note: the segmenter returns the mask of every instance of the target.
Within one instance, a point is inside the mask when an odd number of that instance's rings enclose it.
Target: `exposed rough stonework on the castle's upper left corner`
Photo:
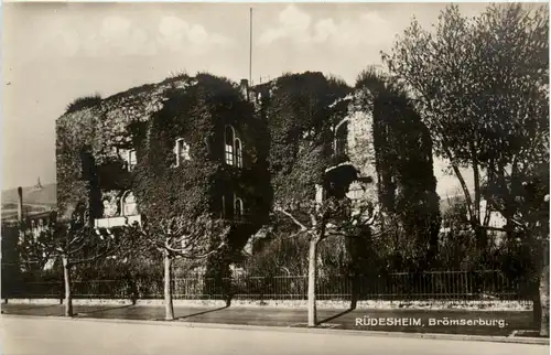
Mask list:
[[[68,105],[56,121],[57,204],[62,215],[72,213],[78,203],[90,205],[90,191],[99,189],[99,178],[106,187],[119,180],[117,169],[110,174],[109,169],[105,169],[117,163],[122,165],[117,148],[131,147],[136,127],[148,122],[151,115],[161,109],[165,92],[186,84],[186,77],[170,78],[105,99],[80,98]],[[100,170],[108,174],[99,176]],[[121,175],[123,170],[119,169]],[[117,187],[129,187],[129,184]]]

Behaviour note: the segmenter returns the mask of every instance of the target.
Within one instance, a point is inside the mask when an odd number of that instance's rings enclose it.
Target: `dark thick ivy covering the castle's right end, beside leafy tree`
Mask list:
[[[429,268],[439,248],[440,197],[432,140],[399,83],[364,72],[356,85],[358,109],[370,116],[381,225],[393,269]]]

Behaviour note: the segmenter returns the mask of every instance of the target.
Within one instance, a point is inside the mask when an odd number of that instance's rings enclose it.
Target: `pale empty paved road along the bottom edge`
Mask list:
[[[543,355],[549,346],[2,316],[4,355]]]

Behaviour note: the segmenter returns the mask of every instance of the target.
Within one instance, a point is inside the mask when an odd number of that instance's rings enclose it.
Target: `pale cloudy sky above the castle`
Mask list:
[[[430,26],[442,3],[4,3],[2,190],[55,182],[55,120],[77,97],[106,97],[176,74],[252,80],[320,71],[354,85],[381,64],[414,15]],[[461,3],[474,15],[485,4]],[[437,191],[456,180],[434,173]]]

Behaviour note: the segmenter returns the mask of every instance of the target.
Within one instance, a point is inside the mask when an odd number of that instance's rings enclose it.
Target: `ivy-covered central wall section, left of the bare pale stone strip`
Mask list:
[[[280,204],[312,201],[334,162],[333,129],[346,117],[346,83],[322,73],[285,74],[255,88],[257,112],[270,131],[269,161]]]

